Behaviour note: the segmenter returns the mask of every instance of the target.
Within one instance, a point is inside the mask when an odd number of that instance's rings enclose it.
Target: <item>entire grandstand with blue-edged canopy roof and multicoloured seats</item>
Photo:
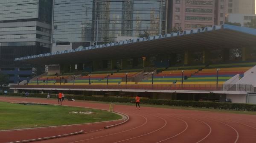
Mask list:
[[[15,59],[48,71],[15,92],[256,104],[256,29],[220,25]]]

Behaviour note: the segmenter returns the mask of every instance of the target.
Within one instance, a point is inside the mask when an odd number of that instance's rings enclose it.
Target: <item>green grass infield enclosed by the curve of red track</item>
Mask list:
[[[69,113],[73,111],[90,111],[95,114]],[[121,118],[115,113],[97,109],[0,102],[0,130],[93,123]]]

